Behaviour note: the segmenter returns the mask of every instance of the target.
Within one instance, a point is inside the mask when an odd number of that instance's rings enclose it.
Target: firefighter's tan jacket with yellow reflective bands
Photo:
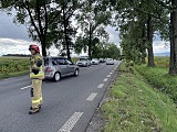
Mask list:
[[[44,78],[43,68],[44,68],[43,57],[39,53],[32,55],[30,58],[30,78],[43,79]],[[35,70],[37,73],[33,70]]]

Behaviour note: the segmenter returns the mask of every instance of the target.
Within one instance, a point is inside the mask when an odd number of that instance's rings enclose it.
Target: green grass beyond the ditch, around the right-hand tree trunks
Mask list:
[[[136,65],[135,68],[149,84],[164,94],[167,94],[175,102],[177,102],[177,76],[168,75],[168,69],[162,67]]]

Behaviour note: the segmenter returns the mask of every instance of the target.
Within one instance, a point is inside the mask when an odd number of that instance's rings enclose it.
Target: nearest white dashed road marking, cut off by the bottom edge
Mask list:
[[[75,123],[80,120],[83,112],[74,112],[72,117],[64,123],[64,125],[59,130],[59,132],[70,132]]]

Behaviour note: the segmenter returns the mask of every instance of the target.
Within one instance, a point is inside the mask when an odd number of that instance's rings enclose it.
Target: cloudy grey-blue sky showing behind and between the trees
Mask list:
[[[118,32],[115,28],[107,26],[106,31],[110,33],[110,42],[119,47]],[[8,16],[4,12],[0,12],[0,56],[6,54],[30,54],[28,51],[30,44],[38,44],[28,36],[24,25],[14,24],[13,16]],[[169,45],[169,44],[168,44]],[[162,42],[159,37],[154,41],[154,53],[169,52],[169,46]],[[50,55],[58,55],[58,50],[52,46]]]

